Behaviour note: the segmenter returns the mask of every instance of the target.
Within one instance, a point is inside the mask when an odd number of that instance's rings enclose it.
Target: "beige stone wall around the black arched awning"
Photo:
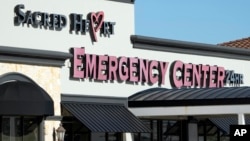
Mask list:
[[[22,73],[42,87],[54,101],[55,115],[61,115],[61,81],[58,67],[0,63],[0,75],[9,72]],[[53,131],[59,126],[59,121],[45,121],[45,141],[53,141]]]

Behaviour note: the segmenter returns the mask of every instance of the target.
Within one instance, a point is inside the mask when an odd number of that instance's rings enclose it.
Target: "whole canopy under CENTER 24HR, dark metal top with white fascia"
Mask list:
[[[129,97],[138,117],[184,117],[250,114],[250,87],[152,88]]]

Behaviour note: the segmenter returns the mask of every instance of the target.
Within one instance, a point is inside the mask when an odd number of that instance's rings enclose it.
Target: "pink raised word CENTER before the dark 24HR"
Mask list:
[[[177,74],[181,73],[180,75]],[[225,70],[223,67],[184,64],[175,61],[171,65],[170,81],[174,87],[223,87]]]

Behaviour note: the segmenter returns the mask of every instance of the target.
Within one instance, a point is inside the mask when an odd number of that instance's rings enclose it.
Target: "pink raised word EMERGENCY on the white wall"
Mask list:
[[[85,54],[84,48],[73,48],[73,53],[73,78],[165,84],[168,62]]]

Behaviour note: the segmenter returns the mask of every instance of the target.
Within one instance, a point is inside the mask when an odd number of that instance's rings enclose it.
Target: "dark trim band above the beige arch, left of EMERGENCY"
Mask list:
[[[71,57],[64,52],[0,46],[1,62],[62,67]]]

